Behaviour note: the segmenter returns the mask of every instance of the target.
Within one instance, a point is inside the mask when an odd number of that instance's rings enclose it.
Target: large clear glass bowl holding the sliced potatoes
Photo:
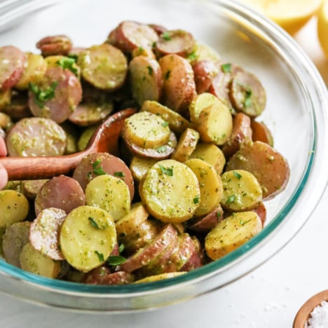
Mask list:
[[[51,6],[50,6],[51,5]],[[0,290],[71,310],[123,312],[165,306],[222,287],[257,268],[303,226],[328,180],[327,88],[308,57],[279,27],[230,0],[70,0],[0,3],[0,45],[36,51],[43,36],[67,34],[76,46],[102,43],[122,20],[182,28],[221,57],[256,74],[267,92],[261,116],[291,168],[287,189],[266,202],[266,227],[226,257],[177,278],[96,286],[50,280],[0,260]]]

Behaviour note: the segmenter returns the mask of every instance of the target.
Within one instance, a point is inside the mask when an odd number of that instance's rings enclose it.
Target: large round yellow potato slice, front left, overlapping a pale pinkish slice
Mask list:
[[[104,264],[115,245],[114,220],[99,207],[77,207],[62,224],[60,249],[66,261],[79,271],[88,272]]]

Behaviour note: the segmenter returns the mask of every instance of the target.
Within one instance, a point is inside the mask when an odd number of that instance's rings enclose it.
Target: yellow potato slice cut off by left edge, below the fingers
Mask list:
[[[29,201],[18,191],[1,190],[0,213],[0,227],[23,221],[29,213]]]

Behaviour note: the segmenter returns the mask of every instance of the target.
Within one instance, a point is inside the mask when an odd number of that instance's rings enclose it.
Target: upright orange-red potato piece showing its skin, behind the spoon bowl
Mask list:
[[[184,113],[196,96],[193,68],[179,55],[166,55],[159,60],[163,74],[163,104]]]

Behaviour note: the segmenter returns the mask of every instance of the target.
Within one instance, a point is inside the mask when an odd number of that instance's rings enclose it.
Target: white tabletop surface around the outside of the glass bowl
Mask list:
[[[328,86],[328,60],[311,20],[296,35]],[[280,253],[231,285],[185,303],[125,315],[90,315],[41,308],[0,293],[0,327],[285,328],[304,301],[328,289],[328,191],[301,232]],[[320,251],[322,250],[322,251]]]

